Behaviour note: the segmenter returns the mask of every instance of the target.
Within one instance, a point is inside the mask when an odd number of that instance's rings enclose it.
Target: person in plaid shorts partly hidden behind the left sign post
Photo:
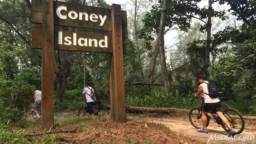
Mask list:
[[[41,118],[41,100],[42,100],[42,92],[39,91],[37,88],[35,89],[35,101],[32,106],[32,111],[36,114],[36,120]]]

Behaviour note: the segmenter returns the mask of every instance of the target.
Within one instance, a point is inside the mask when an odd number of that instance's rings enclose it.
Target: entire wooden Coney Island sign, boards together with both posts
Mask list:
[[[111,117],[124,121],[123,54],[128,53],[126,11],[53,0],[32,0],[32,46],[42,49],[42,129],[53,121],[54,50],[110,54]]]

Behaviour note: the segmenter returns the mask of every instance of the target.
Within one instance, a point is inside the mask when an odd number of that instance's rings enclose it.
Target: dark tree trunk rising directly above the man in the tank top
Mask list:
[[[210,46],[211,46],[211,28],[212,28],[212,1],[209,0],[208,4],[208,21],[207,21],[207,42],[205,48],[205,56],[204,56],[204,66],[199,74],[205,74],[207,72],[207,68],[209,66],[209,57],[210,57]]]

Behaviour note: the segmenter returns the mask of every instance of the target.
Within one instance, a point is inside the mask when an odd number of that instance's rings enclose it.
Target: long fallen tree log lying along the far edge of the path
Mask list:
[[[110,109],[109,104],[103,104],[104,107]],[[148,107],[135,107],[135,106],[126,106],[126,112],[130,113],[141,113],[141,112],[148,112],[148,113],[174,113],[174,114],[186,114],[188,115],[190,110],[186,109],[177,109],[177,108],[148,108]],[[235,116],[239,118],[238,116]],[[243,116],[245,120],[256,120],[256,116]]]

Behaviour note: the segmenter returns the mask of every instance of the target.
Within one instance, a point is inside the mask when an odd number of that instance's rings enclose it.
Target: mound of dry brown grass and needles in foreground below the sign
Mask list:
[[[185,138],[169,128],[149,121],[127,120],[124,123],[112,121],[110,117],[90,117],[59,120],[58,130],[77,129],[76,133],[55,134],[57,143],[69,144],[194,144],[197,140]],[[146,126],[145,126],[146,124]],[[37,139],[43,136],[37,136]],[[31,138],[28,138],[31,141]]]

